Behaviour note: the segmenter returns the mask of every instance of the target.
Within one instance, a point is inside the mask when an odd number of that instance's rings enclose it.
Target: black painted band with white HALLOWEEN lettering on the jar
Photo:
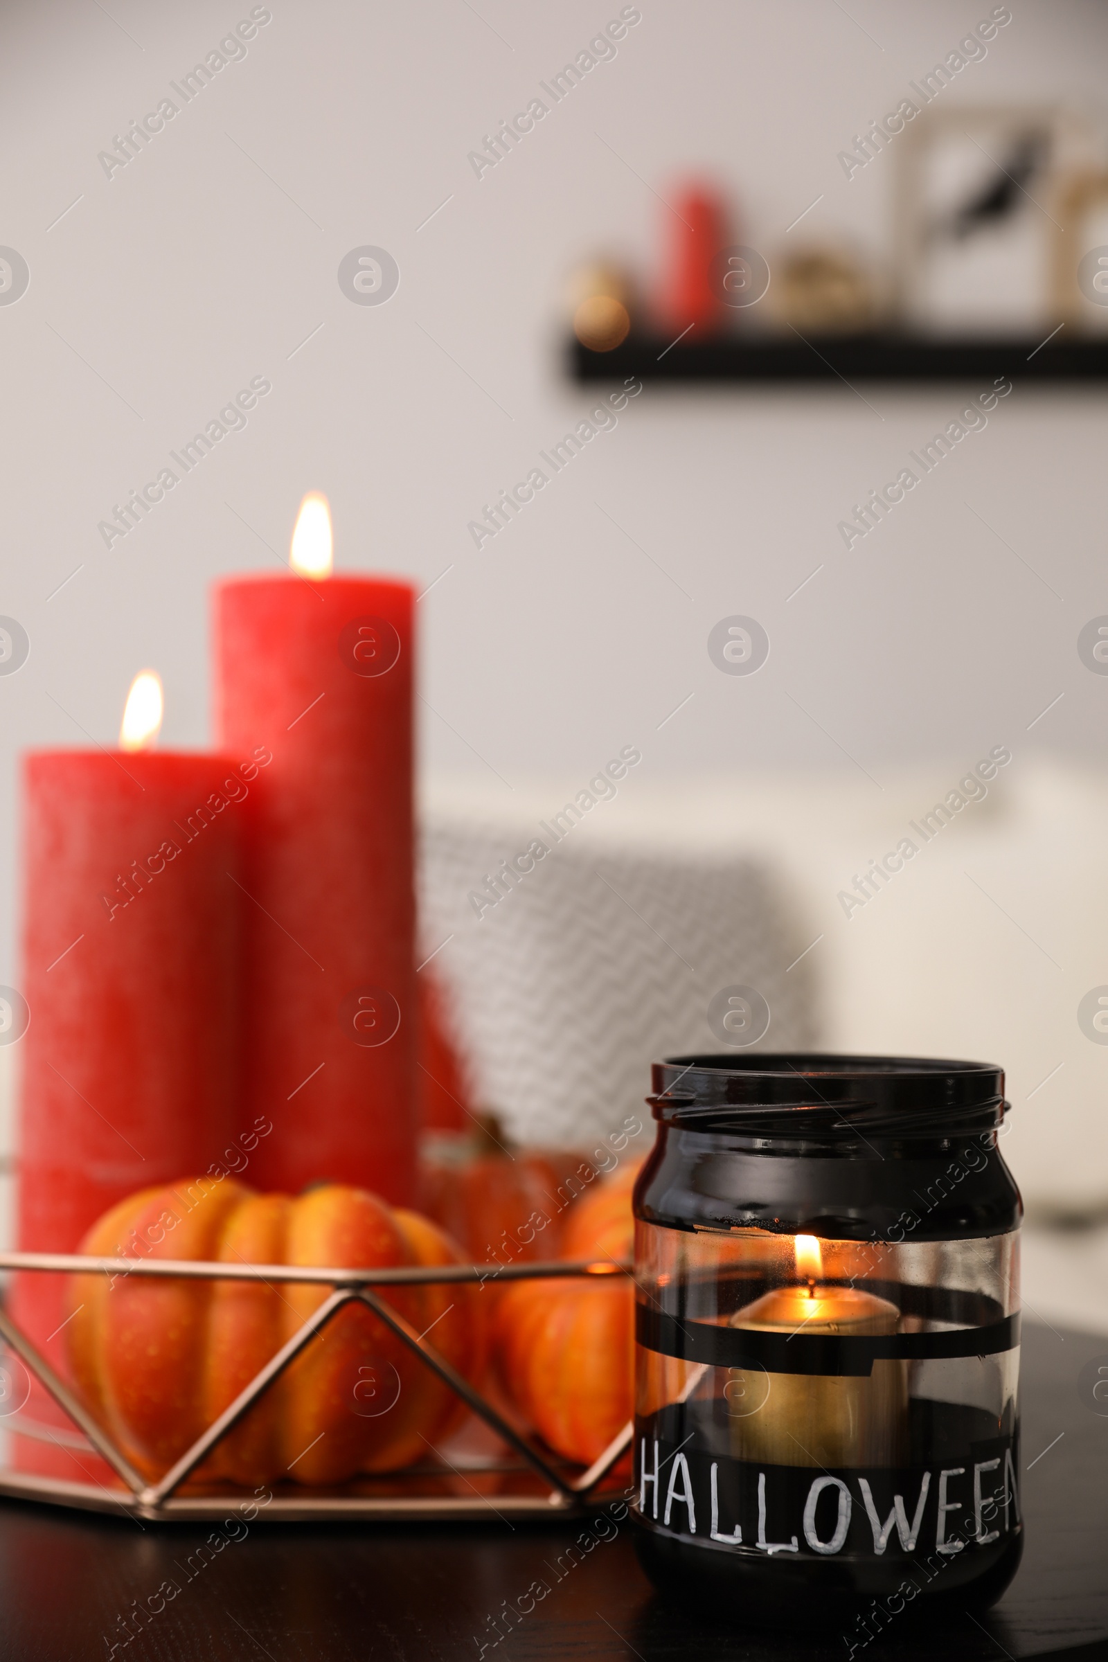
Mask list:
[[[934,1406],[949,1408],[970,1433],[995,1433],[997,1421],[980,1411]],[[978,1414],[982,1426],[970,1423]],[[714,1441],[688,1411],[636,1421],[635,1512],[643,1524],[744,1554],[904,1557],[935,1569],[1020,1529],[1010,1434],[970,1434],[957,1451],[947,1436],[937,1459],[837,1471],[741,1461]]]

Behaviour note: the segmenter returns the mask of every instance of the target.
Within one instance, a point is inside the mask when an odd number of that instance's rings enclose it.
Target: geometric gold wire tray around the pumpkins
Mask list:
[[[108,1487],[98,1481],[80,1483],[65,1478],[47,1478],[23,1473],[13,1466],[0,1466],[0,1496],[23,1501],[45,1501],[55,1506],[81,1511],[115,1512],[156,1522],[194,1522],[223,1517],[229,1507],[248,1507],[254,1516],[272,1522],[430,1522],[430,1521],[487,1521],[490,1511],[505,1519],[576,1517],[601,1496],[623,1494],[623,1486],[608,1483],[616,1463],[628,1449],[633,1424],[628,1423],[608,1444],[588,1471],[560,1461],[543,1451],[518,1431],[500,1409],[468,1383],[434,1345],[422,1338],[405,1318],[392,1308],[375,1288],[424,1286],[453,1281],[528,1281],[585,1275],[628,1275],[628,1265],[611,1260],[595,1261],[543,1261],[500,1266],[492,1276],[488,1268],[477,1265],[437,1265],[349,1270],[326,1266],[249,1263],[229,1265],[193,1261],[181,1258],[93,1258],[76,1253],[0,1253],[0,1270],[35,1273],[90,1275],[140,1275],[179,1276],[203,1281],[296,1281],[331,1288],[329,1296],[287,1340],[251,1383],[236,1396],[228,1409],[181,1454],[178,1463],[158,1481],[148,1483],[135,1469],[128,1456],[116,1446],[105,1428],[90,1414],[80,1396],[38,1353],[35,1345],[17,1326],[7,1310],[0,1310],[0,1338],[70,1416],[75,1433],[58,1433],[58,1428],[7,1421],[7,1429],[17,1436],[48,1438],[61,1448],[100,1454],[116,1474],[118,1486]],[[412,1466],[387,1476],[355,1478],[346,1484],[307,1487],[296,1483],[267,1486],[271,1496],[257,1502],[249,1489],[233,1484],[199,1484],[193,1481],[186,1492],[183,1486],[214,1446],[238,1424],[243,1414],[266,1391],[304,1346],[351,1303],[367,1305],[392,1333],[412,1350],[424,1366],[439,1374],[452,1391],[482,1419],[503,1444],[507,1456],[483,1456],[452,1464],[435,1451],[435,1461]],[[515,1458],[512,1458],[515,1456]],[[475,1483],[477,1479],[477,1483]],[[480,1491],[478,1483],[492,1492]],[[468,1489],[470,1492],[462,1492]]]

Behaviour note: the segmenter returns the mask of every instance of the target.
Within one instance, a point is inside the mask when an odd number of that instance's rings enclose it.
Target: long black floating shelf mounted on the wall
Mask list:
[[[1108,381],[1108,337],[1090,339],[1065,331],[1047,342],[1013,337],[939,339],[902,334],[834,336],[628,336],[611,352],[570,342],[575,381],[718,381],[718,382],[992,382]]]

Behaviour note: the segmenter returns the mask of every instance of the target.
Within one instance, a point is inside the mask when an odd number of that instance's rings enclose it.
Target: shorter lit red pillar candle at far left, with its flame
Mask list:
[[[150,750],[159,725],[161,688],[145,671],[120,751],[23,763],[27,1007],[10,1029],[28,1024],[23,1251],[75,1251],[108,1207],[204,1172],[244,1127],[233,879],[259,766]],[[65,1371],[61,1291],[60,1276],[17,1276],[13,1315]]]

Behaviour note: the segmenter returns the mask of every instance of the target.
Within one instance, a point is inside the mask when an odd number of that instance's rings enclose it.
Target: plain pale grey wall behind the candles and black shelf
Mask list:
[[[851,553],[837,520],[950,419],[954,389],[648,387],[495,542],[477,552],[465,529],[590,402],[558,371],[575,259],[651,263],[669,218],[653,191],[698,168],[771,254],[822,193],[804,229],[846,229],[889,259],[892,156],[847,181],[836,153],[988,5],[643,0],[615,61],[482,179],[467,153],[618,5],[274,0],[246,60],[111,179],[98,151],[249,5],[108,10],[8,13],[0,60],[0,243],[32,269],[0,307],[0,612],[32,637],[25,668],[0,678],[0,979],[18,974],[17,753],[111,743],[143,665],[164,676],[164,743],[203,745],[208,582],[284,558],[309,487],[331,495],[341,565],[445,572],[420,607],[435,776],[507,794],[497,774],[588,776],[628,741],[659,786],[751,765],[856,773],[849,758],[880,783],[998,743],[1100,761],[1108,680],[1075,640],[1108,610],[1101,389],[1017,381]],[[1095,105],[1103,8],[1012,10],[950,103]],[[385,306],[339,291],[357,244],[399,261]],[[256,374],[272,394],[249,427],[105,548],[111,504]],[[704,650],[734,612],[772,640],[749,681]]]

